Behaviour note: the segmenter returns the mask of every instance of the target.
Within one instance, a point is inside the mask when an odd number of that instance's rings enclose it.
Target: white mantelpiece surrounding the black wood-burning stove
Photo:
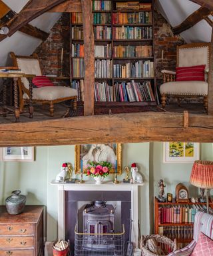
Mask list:
[[[58,238],[65,239],[65,191],[130,191],[131,209],[132,209],[132,243],[138,247],[138,186],[144,183],[118,183],[106,181],[101,185],[95,184],[95,181],[85,181],[79,183],[59,183],[52,181],[51,185],[58,187]]]

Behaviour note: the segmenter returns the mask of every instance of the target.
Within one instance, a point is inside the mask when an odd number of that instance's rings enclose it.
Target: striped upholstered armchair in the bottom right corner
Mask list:
[[[198,242],[200,232],[213,239],[213,215],[198,212],[194,219],[194,235],[192,242],[186,247],[170,253],[168,256],[190,256]]]

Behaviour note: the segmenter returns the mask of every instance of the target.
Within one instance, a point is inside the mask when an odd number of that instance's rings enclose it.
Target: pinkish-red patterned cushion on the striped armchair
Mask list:
[[[212,256],[213,241],[209,237],[206,237],[204,233],[200,232],[198,243],[194,247],[191,256]]]

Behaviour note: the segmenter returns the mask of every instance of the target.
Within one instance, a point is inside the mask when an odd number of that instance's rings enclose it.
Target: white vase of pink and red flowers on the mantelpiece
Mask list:
[[[109,175],[109,171],[112,165],[109,162],[89,162],[89,166],[87,167],[87,176],[92,176],[96,183],[101,184],[105,177]]]

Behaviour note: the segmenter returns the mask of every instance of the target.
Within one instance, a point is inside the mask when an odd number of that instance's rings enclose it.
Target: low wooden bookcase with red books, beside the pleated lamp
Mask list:
[[[213,203],[210,200],[210,207]],[[185,247],[193,239],[194,216],[206,209],[206,203],[161,203],[154,199],[154,233],[174,240],[178,248]]]

